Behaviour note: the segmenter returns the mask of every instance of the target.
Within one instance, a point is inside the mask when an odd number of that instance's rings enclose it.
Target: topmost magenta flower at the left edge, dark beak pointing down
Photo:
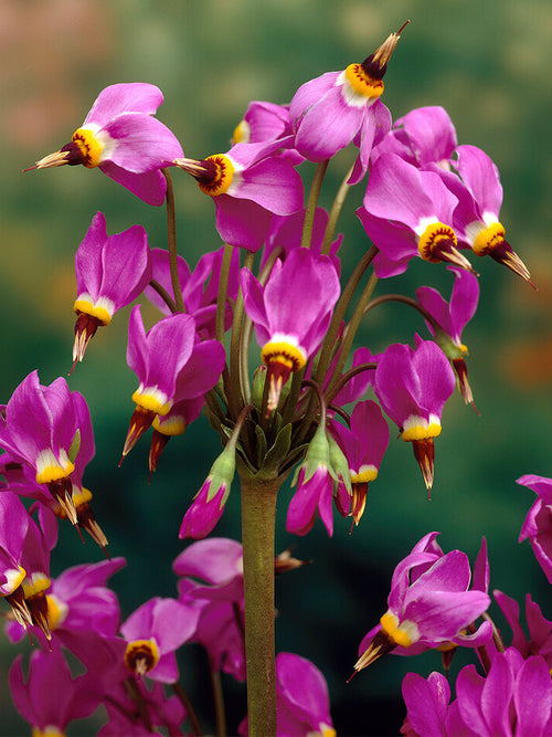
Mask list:
[[[73,442],[77,432],[73,394],[60,377],[50,386],[32,371],[15,389],[0,425],[0,446],[12,461],[25,463],[35,482],[45,484],[71,522],[76,525],[71,474],[75,470]]]

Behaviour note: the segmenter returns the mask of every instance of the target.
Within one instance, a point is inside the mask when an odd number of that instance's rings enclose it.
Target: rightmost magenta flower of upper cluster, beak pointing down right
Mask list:
[[[458,176],[439,173],[458,199],[453,222],[458,240],[469,245],[476,255],[491,256],[531,284],[531,274],[512,251],[505,238],[505,227],[499,222],[502,186],[498,168],[476,146],[458,146],[456,154]]]

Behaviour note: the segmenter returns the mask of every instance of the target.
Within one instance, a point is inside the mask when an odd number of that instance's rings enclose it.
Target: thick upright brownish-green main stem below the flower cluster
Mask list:
[[[242,474],[245,660],[251,737],[276,734],[274,523],[282,478]]]

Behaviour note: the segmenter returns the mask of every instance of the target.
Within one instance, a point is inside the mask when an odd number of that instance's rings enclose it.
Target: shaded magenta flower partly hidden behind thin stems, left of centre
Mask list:
[[[195,319],[198,335],[203,338],[215,337],[216,297],[219,294],[219,281],[221,263],[224,249],[204,253],[198,262],[193,272],[182,256],[178,256],[179,281],[182,287],[182,299],[185,312]],[[170,276],[169,253],[164,249],[152,249],[151,251],[152,274],[151,277],[172,295],[172,282]],[[226,295],[229,299],[237,296],[240,286],[240,252],[232,254],[232,263],[229,274]],[[145,292],[148,299],[156,305],[164,315],[170,315],[170,309],[159,294],[149,286]],[[226,304],[225,328],[232,325],[232,308]]]

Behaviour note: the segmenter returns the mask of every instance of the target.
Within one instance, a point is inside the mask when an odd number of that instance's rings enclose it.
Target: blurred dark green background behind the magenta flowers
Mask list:
[[[384,103],[394,118],[413,107],[443,105],[459,143],[484,148],[505,187],[501,220],[507,238],[539,286],[533,292],[490,260],[478,261],[479,310],[464,337],[469,379],[480,417],[454,396],[436,443],[432,502],[410,448],[392,441],[368,510],[349,535],[336,519],[328,539],[318,522],[305,538],[285,531],[289,491],[278,508],[278,548],[311,566],[277,581],[277,649],[311,659],[327,676],[340,735],[397,734],[403,718],[402,676],[439,667],[437,655],[388,656],[346,684],[360,639],[386,608],[394,566],[427,531],[440,530],[445,550],[474,560],[487,537],[491,588],[518,598],[531,591],[552,619],[544,575],[519,529],[533,494],[516,485],[524,473],[552,476],[552,259],[550,256],[550,49],[552,10],[546,0],[4,0],[0,3],[0,232],[3,260],[0,309],[3,359],[1,401],[34,368],[50,383],[71,368],[75,297],[73,256],[97,210],[116,232],[141,223],[151,246],[166,243],[164,212],[149,208],[99,171],[84,168],[21,170],[65,144],[98,92],[115,82],[151,82],[164,93],[160,119],[185,152],[202,158],[224,151],[251,99],[286,103],[307,80],[362,61],[405,19],[412,23],[390,63]],[[330,167],[322,196],[332,191],[351,151]],[[308,168],[306,167],[306,170]],[[174,177],[179,250],[191,265],[219,246],[212,203],[184,175]],[[340,223],[341,252],[350,271],[367,239],[354,217],[361,189],[352,191]],[[414,295],[431,284],[449,293],[439,267],[412,263],[407,274],[380,282]],[[147,313],[153,319],[153,312]],[[200,419],[172,440],[148,485],[149,438],[117,467],[136,379],[125,362],[128,310],[91,344],[70,379],[88,400],[97,452],[86,484],[110,541],[128,566],[113,581],[124,618],[152,596],[174,596],[171,562],[182,549],[182,514],[219,452],[219,440]],[[359,337],[373,351],[390,341],[426,335],[401,305],[370,314]],[[359,343],[360,345],[360,343]],[[237,489],[217,535],[238,537]],[[337,516],[337,515],[336,515]],[[91,540],[81,545],[65,526],[52,573],[102,560]],[[496,609],[493,610],[496,612]],[[500,622],[500,618],[498,618]],[[509,634],[507,634],[507,638]],[[0,641],[0,734],[25,735],[14,714],[8,668],[17,649]],[[461,654],[457,661],[460,663]],[[464,661],[463,661],[464,662]],[[453,667],[457,667],[455,663]],[[182,680],[210,723],[206,670],[199,649],[182,659]],[[241,686],[224,680],[230,729],[245,713]],[[70,727],[70,735],[93,734]],[[84,729],[84,731],[83,731]]]

